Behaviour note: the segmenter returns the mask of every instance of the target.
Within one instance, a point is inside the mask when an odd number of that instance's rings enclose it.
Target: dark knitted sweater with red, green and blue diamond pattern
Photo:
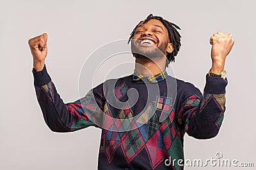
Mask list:
[[[33,76],[36,97],[51,131],[102,129],[98,169],[183,169],[184,134],[213,138],[223,121],[227,78],[207,74],[202,95],[191,83],[166,72],[153,77],[132,74],[107,80],[82,99],[65,104],[46,67],[33,70]],[[138,101],[132,100],[136,95],[129,95],[129,89],[137,90]],[[119,108],[113,106],[118,102]],[[166,115],[164,120],[161,115]],[[182,161],[164,164],[167,159]]]

